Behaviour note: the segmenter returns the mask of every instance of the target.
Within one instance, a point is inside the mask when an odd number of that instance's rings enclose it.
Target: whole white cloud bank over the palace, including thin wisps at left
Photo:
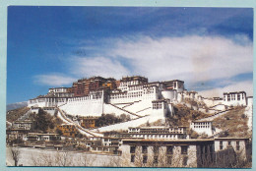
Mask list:
[[[72,77],[51,74],[37,76],[36,80],[43,85],[69,85],[83,77],[120,79],[141,75],[150,81],[228,81],[228,78],[253,71],[252,42],[244,35],[235,35],[233,39],[240,41],[199,35],[160,38],[132,35],[103,39],[103,45],[93,45],[95,53],[90,57],[71,56],[66,60],[67,76]],[[124,61],[129,64],[125,65]]]

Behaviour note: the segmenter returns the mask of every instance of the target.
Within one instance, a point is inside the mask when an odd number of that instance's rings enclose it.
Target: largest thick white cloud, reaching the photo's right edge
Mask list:
[[[153,80],[209,81],[252,72],[252,43],[218,36],[119,39],[108,51],[131,61],[133,70]]]

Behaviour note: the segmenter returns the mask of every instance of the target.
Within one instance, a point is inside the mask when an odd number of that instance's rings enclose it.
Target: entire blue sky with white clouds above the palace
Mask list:
[[[252,95],[252,37],[252,9],[11,6],[7,103],[91,76]]]

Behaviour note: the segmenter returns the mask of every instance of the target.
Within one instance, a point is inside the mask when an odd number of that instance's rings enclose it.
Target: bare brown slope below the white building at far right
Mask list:
[[[222,137],[250,137],[247,126],[248,118],[244,112],[245,107],[234,107],[233,110],[230,110],[223,116],[214,119],[213,126],[224,131],[227,130]]]

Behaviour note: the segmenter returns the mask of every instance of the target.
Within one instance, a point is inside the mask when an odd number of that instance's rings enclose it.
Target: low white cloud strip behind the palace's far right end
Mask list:
[[[253,83],[252,81],[234,83],[232,85],[226,85],[224,87],[213,88],[209,90],[199,91],[199,94],[204,97],[222,97],[224,92],[233,92],[233,91],[245,91],[247,96],[253,95]]]

